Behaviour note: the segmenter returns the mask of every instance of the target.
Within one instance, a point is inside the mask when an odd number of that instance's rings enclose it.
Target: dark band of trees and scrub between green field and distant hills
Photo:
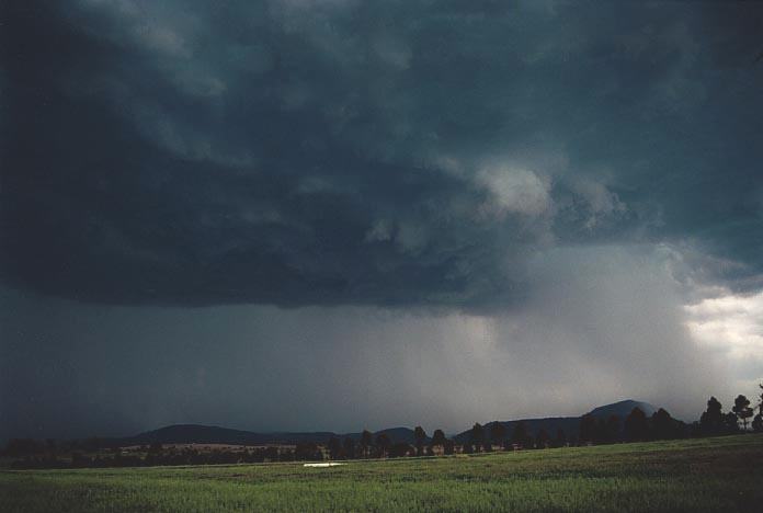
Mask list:
[[[763,390],[763,385],[760,387]],[[367,430],[363,431],[357,442],[350,436],[331,436],[322,445],[310,442],[266,447],[214,444],[186,444],[179,447],[153,443],[125,448],[104,446],[99,438],[82,442],[14,438],[8,443],[4,456],[18,458],[11,464],[12,468],[150,467],[447,456],[456,453],[475,454],[717,436],[748,432],[749,428],[755,432],[763,432],[763,394],[759,398],[756,409],[758,414],[751,408],[750,400],[740,395],[727,412],[724,412],[721,403],[715,397],[710,397],[699,421],[691,424],[673,419],[662,408],[648,417],[636,407],[625,419],[619,415],[600,418],[588,413],[580,419],[577,438],[568,437],[563,430],[558,430],[551,436],[543,429],[533,437],[526,424],[520,421],[514,424],[511,433],[506,432],[501,422],[490,423],[489,429],[475,423],[468,432],[468,441],[459,444],[447,438],[442,430],[435,430],[430,438],[421,426],[417,426],[413,431],[414,445],[396,442],[387,433],[374,436]]]

